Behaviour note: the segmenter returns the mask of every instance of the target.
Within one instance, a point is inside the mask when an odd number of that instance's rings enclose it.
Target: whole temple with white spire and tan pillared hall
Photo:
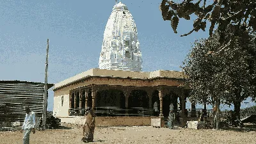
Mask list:
[[[115,4],[104,31],[99,68],[55,84],[54,115],[61,122],[83,124],[84,111],[93,108],[97,126],[152,125],[154,120],[163,126],[172,103],[180,124],[196,118],[195,105],[186,109],[189,88],[183,72],[143,72],[141,48],[127,6]]]

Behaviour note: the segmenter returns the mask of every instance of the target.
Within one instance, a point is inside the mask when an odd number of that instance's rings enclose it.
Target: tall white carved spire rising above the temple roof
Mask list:
[[[140,42],[134,19],[125,4],[116,3],[104,31],[99,68],[141,71],[141,65]]]

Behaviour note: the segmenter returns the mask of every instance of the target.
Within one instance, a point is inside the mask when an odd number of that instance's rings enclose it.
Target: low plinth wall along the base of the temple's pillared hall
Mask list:
[[[84,116],[58,117],[61,122],[74,125],[83,125]],[[115,126],[150,126],[151,118],[143,116],[97,116],[95,118],[96,127],[115,127]]]

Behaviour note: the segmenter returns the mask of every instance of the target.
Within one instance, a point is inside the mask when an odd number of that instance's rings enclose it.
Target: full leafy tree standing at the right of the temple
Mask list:
[[[191,86],[189,100],[200,104],[212,104],[212,97],[223,104],[234,104],[236,116],[240,116],[241,102],[255,97],[256,46],[255,35],[248,44],[234,40],[228,49],[212,55],[220,47],[220,35],[214,33],[208,39],[196,40],[183,63],[183,70]],[[206,54],[207,53],[207,54]]]

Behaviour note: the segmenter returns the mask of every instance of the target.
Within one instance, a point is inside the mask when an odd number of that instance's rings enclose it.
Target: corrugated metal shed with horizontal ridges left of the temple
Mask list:
[[[47,89],[52,86],[48,84]],[[42,117],[43,100],[44,83],[0,81],[0,122],[23,122],[26,105]]]

